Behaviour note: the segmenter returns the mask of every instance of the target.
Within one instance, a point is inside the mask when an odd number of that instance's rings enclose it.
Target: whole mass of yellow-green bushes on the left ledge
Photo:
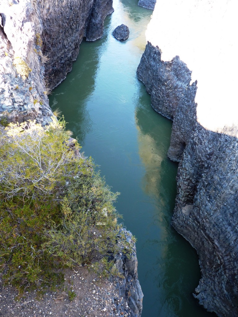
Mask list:
[[[52,120],[46,130],[33,121],[0,132],[0,270],[18,287],[58,283],[57,266],[118,252],[117,194],[69,149],[64,120]]]

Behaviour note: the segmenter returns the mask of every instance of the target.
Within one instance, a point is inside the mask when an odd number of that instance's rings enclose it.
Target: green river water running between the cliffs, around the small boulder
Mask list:
[[[50,96],[83,146],[100,165],[116,209],[137,238],[142,317],[208,317],[192,292],[200,270],[194,249],[170,225],[177,164],[167,158],[172,122],[150,106],[136,68],[144,51],[151,10],[136,0],[114,0],[102,39],[82,42],[73,70]],[[111,35],[121,23],[129,39]]]

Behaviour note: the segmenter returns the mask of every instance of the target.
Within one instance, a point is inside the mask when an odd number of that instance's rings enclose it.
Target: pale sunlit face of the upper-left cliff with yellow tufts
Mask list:
[[[1,116],[14,122],[37,119],[45,125],[52,111],[44,83],[42,55],[36,45],[36,15],[27,1],[13,1],[10,5],[3,0],[0,13]]]

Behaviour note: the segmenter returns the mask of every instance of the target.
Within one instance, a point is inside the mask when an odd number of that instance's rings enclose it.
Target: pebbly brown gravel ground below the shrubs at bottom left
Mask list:
[[[47,290],[43,295],[36,291],[26,292],[18,301],[14,300],[18,295],[17,290],[9,286],[3,286],[0,280],[0,316],[12,317],[109,317],[130,315],[128,307],[121,307],[116,311],[119,298],[119,290],[115,290],[118,279],[100,279],[95,273],[91,273],[87,267],[77,268],[76,271],[64,272],[63,287],[52,292]],[[1,276],[0,276],[1,278]],[[122,279],[119,279],[119,284]],[[65,289],[65,290],[64,290]],[[76,297],[69,301],[69,292],[74,292]],[[72,294],[72,293],[71,293]],[[120,306],[120,305],[119,305]]]

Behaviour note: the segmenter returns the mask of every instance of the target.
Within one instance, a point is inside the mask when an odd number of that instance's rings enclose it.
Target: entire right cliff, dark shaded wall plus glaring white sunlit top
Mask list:
[[[173,120],[168,156],[180,164],[172,225],[199,255],[194,295],[224,317],[238,316],[235,5],[156,3],[137,69],[152,107]]]

